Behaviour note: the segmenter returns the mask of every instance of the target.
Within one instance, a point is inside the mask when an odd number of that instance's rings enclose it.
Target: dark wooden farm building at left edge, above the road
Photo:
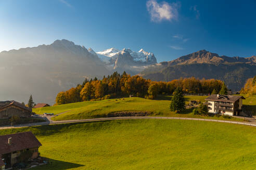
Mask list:
[[[0,102],[0,119],[6,119],[11,116],[30,117],[31,108],[25,107],[16,101]]]

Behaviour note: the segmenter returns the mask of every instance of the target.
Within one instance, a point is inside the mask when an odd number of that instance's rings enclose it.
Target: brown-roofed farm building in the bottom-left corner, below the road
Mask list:
[[[0,167],[2,169],[24,161],[28,155],[31,159],[37,158],[38,149],[42,146],[32,132],[0,136],[0,144]]]

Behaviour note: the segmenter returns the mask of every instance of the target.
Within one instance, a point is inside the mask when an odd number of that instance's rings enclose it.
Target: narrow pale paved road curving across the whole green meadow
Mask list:
[[[2,126],[0,129],[12,129],[20,127],[29,127],[37,125],[47,125],[47,124],[62,124],[62,123],[75,123],[75,122],[94,122],[94,121],[106,121],[106,120],[119,120],[119,119],[180,119],[180,120],[200,120],[200,121],[211,121],[211,122],[224,122],[233,124],[244,124],[249,126],[256,126],[256,123],[252,122],[236,122],[236,121],[226,121],[226,120],[214,120],[214,119],[198,119],[198,118],[181,118],[181,117],[112,117],[112,118],[96,118],[96,119],[83,119],[83,120],[61,120],[61,121],[47,121],[39,123],[21,124],[14,126]]]

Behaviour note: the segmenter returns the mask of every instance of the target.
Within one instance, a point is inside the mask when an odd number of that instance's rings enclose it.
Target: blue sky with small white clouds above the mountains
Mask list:
[[[68,39],[96,52],[143,48],[158,62],[202,49],[247,57],[255,9],[255,0],[0,0],[0,51]]]

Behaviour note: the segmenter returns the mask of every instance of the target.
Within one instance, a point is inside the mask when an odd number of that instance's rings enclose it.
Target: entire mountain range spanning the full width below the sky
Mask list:
[[[75,87],[85,78],[102,78],[114,71],[170,81],[180,77],[216,78],[238,91],[256,75],[256,56],[219,56],[206,50],[157,63],[155,55],[143,49],[110,48],[95,52],[62,39],[50,45],[0,52],[0,100],[53,104],[58,92]]]

